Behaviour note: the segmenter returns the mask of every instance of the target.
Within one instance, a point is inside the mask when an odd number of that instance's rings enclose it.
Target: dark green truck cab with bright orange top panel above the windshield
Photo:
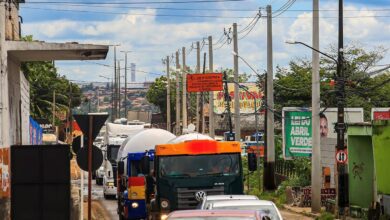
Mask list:
[[[152,219],[196,209],[206,195],[243,194],[239,142],[192,140],[155,147]]]

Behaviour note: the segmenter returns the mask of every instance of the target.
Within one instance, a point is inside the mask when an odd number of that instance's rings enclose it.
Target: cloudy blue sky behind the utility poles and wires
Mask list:
[[[232,36],[229,30],[233,23],[238,26],[238,54],[263,73],[267,68],[267,5],[271,5],[274,16],[274,68],[286,67],[293,59],[311,59],[309,48],[285,43],[296,40],[311,44],[310,0],[26,0],[20,6],[20,16],[22,35],[33,35],[35,40],[120,45],[116,57],[121,68],[125,62],[121,51],[131,51],[128,66],[135,63],[136,81],[144,82],[165,75],[162,59],[174,56],[182,47],[186,48],[187,66],[195,69],[197,41],[202,49],[201,63],[203,53],[207,53],[208,64],[208,36],[215,44],[214,69],[233,68],[233,43],[226,42],[226,36]],[[286,10],[280,10],[283,8]],[[338,42],[337,10],[338,1],[320,0],[320,50],[325,53]],[[389,0],[345,0],[344,10],[345,46],[390,48]],[[258,13],[261,18],[256,22]],[[112,46],[105,60],[56,61],[60,75],[78,82],[106,82],[101,75],[112,77],[113,64]],[[390,64],[389,52],[384,53],[380,64]],[[239,72],[252,74],[242,60]]]

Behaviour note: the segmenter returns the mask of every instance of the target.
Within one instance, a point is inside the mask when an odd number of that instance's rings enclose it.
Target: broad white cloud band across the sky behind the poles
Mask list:
[[[311,6],[311,5],[310,5]],[[324,4],[322,8],[335,9],[335,4]],[[346,9],[357,10],[359,8],[348,6]],[[153,9],[144,11],[129,11],[129,14],[152,14],[157,12]],[[296,13],[298,14],[298,13]],[[348,16],[375,15],[376,12],[356,11],[348,12]],[[228,15],[228,14],[225,14]],[[346,15],[346,16],[347,16]],[[281,17],[283,17],[282,15]],[[311,44],[312,36],[312,14],[301,12],[297,19],[275,18],[273,21],[273,46],[274,46],[274,66],[285,66],[294,57],[310,57],[311,51],[298,45],[286,45],[287,39],[294,39]],[[321,12],[323,17],[337,17],[337,12]],[[239,30],[246,26],[251,19],[239,20]],[[202,40],[213,34],[214,42],[221,36],[223,27],[231,26],[230,20],[214,19],[209,22],[179,22],[163,23],[155,16],[140,15],[120,15],[109,21],[47,21],[39,23],[23,24],[24,34],[33,34],[34,38],[50,41],[78,41],[88,43],[117,44],[118,58],[123,58],[120,50],[135,51],[129,55],[130,62],[136,62],[137,68],[144,71],[162,72],[165,70],[161,63],[161,58],[171,55],[182,46],[187,46],[191,42]],[[326,50],[330,44],[337,44],[338,23],[334,18],[320,19],[320,48]],[[361,41],[370,46],[390,45],[390,24],[379,18],[358,18],[345,19],[344,26],[346,42]],[[72,37],[76,36],[76,37]],[[239,34],[241,37],[242,34]],[[232,44],[214,51],[214,69],[218,67],[233,66]],[[266,20],[261,19],[258,25],[245,39],[239,41],[239,54],[244,57],[255,69],[262,70],[266,67]],[[146,52],[150,51],[150,52]],[[208,52],[207,45],[204,51]],[[202,52],[203,54],[203,52]],[[112,50],[105,63],[112,64]],[[193,51],[187,57],[187,64],[194,68],[196,53]],[[389,58],[386,58],[390,60]],[[181,57],[180,57],[181,62]],[[61,63],[62,64],[62,63]],[[65,64],[59,66],[62,73],[72,74],[77,79],[84,77],[87,80],[100,80],[97,72],[112,72],[111,69],[101,66],[72,65]],[[83,71],[82,71],[83,70]],[[82,72],[81,72],[82,71]],[[240,72],[250,72],[251,70],[240,61]],[[79,74],[80,73],[80,74]],[[139,74],[142,80],[146,74]],[[149,77],[155,77],[150,75]]]

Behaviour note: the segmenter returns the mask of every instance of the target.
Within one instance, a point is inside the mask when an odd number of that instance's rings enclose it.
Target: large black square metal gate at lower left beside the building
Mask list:
[[[11,146],[11,219],[70,218],[70,147]]]

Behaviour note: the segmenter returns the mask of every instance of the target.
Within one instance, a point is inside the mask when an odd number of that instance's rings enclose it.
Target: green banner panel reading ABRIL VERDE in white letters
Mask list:
[[[284,111],[283,125],[284,157],[310,157],[312,152],[311,112]]]

